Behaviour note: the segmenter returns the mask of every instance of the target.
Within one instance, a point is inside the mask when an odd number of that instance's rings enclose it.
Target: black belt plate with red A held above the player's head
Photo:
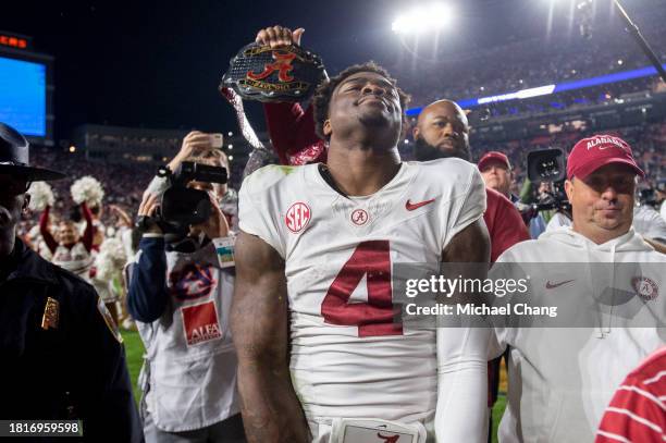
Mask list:
[[[248,100],[301,101],[324,78],[319,56],[295,45],[271,48],[255,42],[231,60],[220,86]]]

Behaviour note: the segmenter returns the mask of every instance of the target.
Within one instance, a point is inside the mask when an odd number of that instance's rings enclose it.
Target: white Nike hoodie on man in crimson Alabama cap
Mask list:
[[[588,263],[637,263],[604,268],[610,271],[609,280],[592,274],[587,280],[567,280],[576,275],[557,275],[557,264],[548,264],[543,270],[553,282],[570,282],[562,288],[559,285],[551,288],[579,295],[581,302],[599,296],[600,287],[605,284],[617,291],[631,291],[634,283],[627,280],[632,279],[616,275],[616,268],[618,272],[638,270],[639,281],[648,281],[648,291],[654,296],[649,300],[641,297],[644,306],[656,312],[655,324],[659,320],[664,322],[666,255],[656,253],[633,230],[596,245],[571,229],[562,227],[544,233],[538,241],[517,244],[498,258],[497,263],[501,262],[581,263],[581,268],[589,269],[592,267]],[[540,291],[545,297],[543,285],[538,287],[541,290],[532,291]],[[547,294],[556,296],[555,291]],[[634,291],[631,294],[638,297]],[[622,327],[624,320],[613,318],[613,327],[604,321],[602,328],[495,328],[497,348],[491,350],[491,356],[509,346],[508,401],[499,424],[499,442],[594,441],[604,408],[619,383],[645,356],[666,342],[663,328],[649,324],[627,328]]]

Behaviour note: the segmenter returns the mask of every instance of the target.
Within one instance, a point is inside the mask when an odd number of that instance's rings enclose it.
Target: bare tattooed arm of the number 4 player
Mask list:
[[[289,377],[284,260],[266,242],[240,232],[231,328],[248,442],[309,442]]]

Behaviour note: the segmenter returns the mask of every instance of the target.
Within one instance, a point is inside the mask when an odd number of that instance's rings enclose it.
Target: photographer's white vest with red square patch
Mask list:
[[[218,268],[212,244],[169,251],[166,267],[165,311],[152,323],[137,321],[146,345],[141,387],[159,429],[188,431],[239,411],[229,327],[234,268]]]

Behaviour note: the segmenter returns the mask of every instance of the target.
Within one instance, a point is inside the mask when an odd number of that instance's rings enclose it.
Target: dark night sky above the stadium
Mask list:
[[[452,1],[458,19],[455,29],[440,37],[439,57],[543,34],[546,1]],[[258,29],[276,23],[305,27],[304,46],[322,56],[330,74],[369,59],[391,69],[405,57],[391,22],[414,2],[7,3],[0,29],[33,36],[36,51],[55,57],[54,138],[60,139],[83,123],[235,131],[217,86],[230,58]],[[261,127],[258,106],[249,108]]]

